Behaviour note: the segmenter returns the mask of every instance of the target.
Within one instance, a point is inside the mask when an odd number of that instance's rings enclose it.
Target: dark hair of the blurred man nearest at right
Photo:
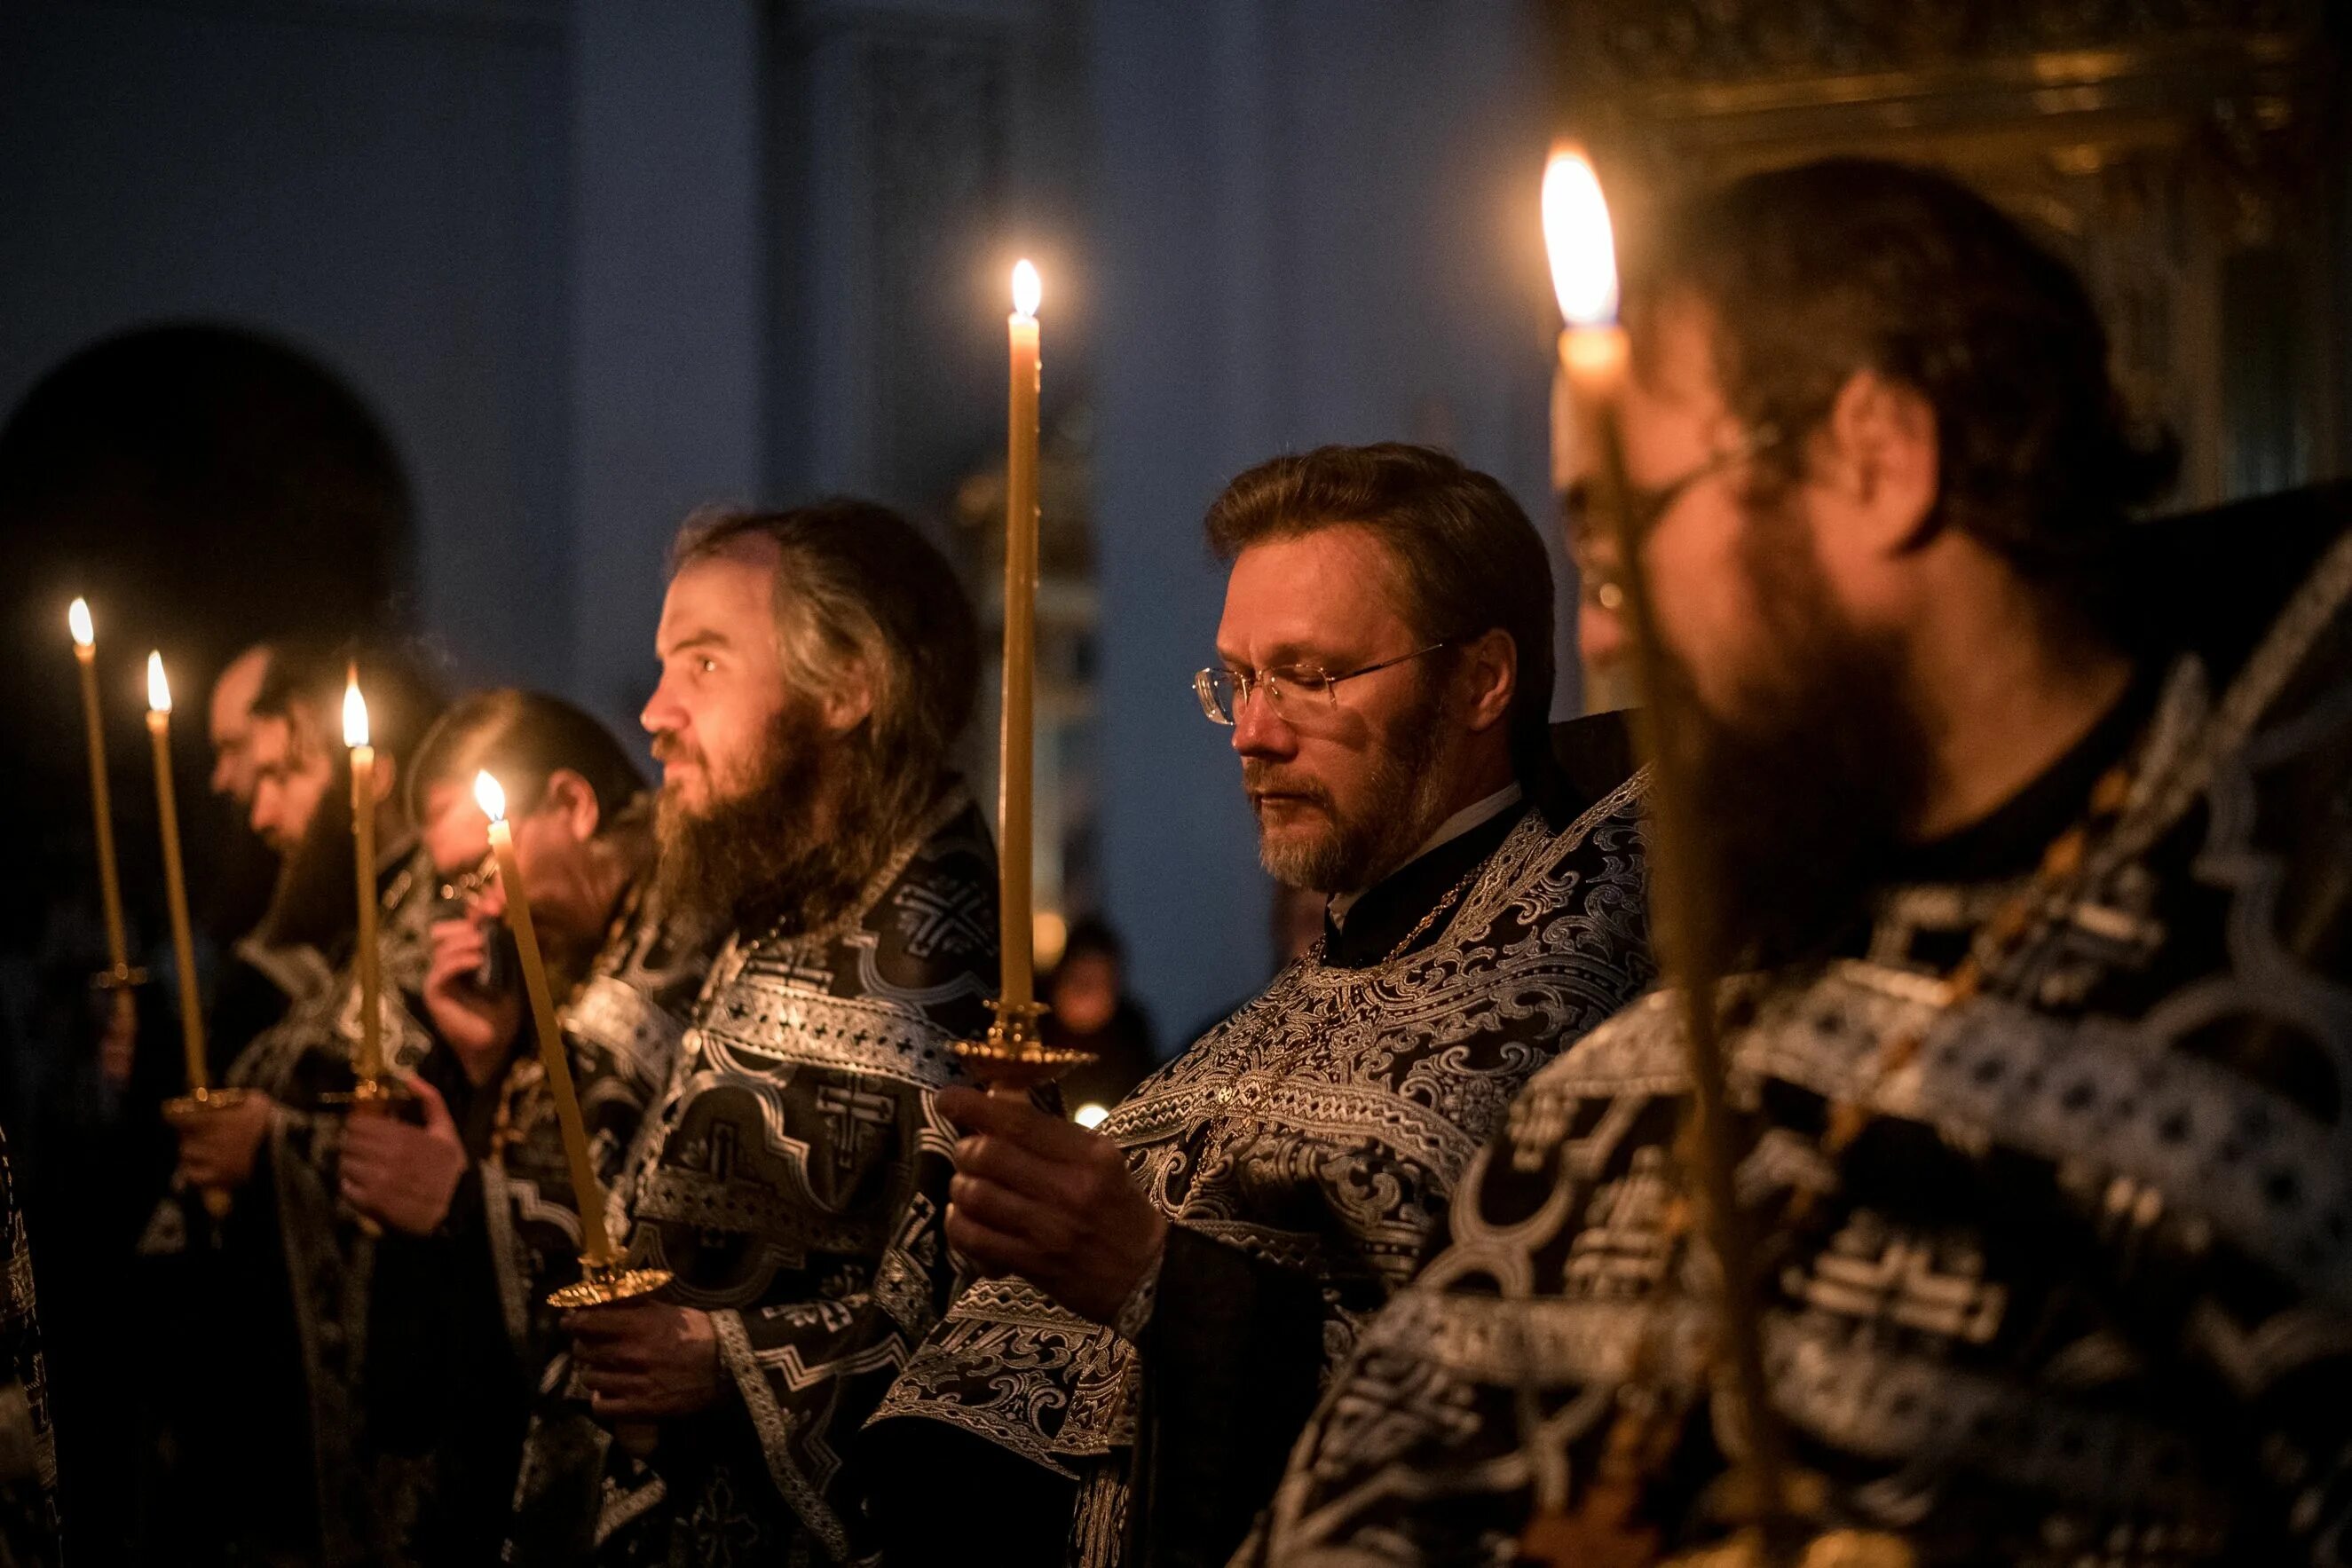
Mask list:
[[[1860,369],[1936,411],[1940,494],[1929,527],[1997,550],[2053,607],[2100,616],[2131,515],[2173,480],[2178,447],[2133,425],[2107,331],[2082,280],[1957,179],[1870,158],[1750,174],[1684,202],[1632,273],[1644,320],[1696,299],[1724,402],[1778,444],[1795,482],[1804,437]]]

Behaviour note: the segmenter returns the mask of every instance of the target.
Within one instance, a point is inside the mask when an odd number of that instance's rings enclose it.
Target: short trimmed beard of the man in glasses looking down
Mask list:
[[[1444,743],[1444,689],[1425,682],[1414,705],[1397,717],[1371,764],[1364,804],[1343,811],[1331,790],[1312,778],[1284,778],[1282,769],[1247,757],[1242,788],[1303,797],[1329,823],[1310,837],[1277,839],[1258,820],[1258,865],[1282,886],[1312,893],[1350,893],[1404,865],[1437,825],[1437,748]]]

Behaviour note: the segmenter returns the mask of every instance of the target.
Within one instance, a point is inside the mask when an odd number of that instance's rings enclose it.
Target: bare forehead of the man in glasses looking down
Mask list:
[[[1404,567],[1362,524],[1258,541],[1232,559],[1216,654],[1235,668],[1385,658],[1418,637]]]

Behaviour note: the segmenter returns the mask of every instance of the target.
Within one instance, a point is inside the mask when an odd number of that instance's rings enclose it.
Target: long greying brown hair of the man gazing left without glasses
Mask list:
[[[978,630],[971,599],[913,522],[873,501],[830,498],[786,512],[706,508],[687,517],[670,571],[746,538],[776,545],[776,651],[788,682],[826,691],[858,665],[873,682],[861,726],[901,827],[941,792],[971,719]]]

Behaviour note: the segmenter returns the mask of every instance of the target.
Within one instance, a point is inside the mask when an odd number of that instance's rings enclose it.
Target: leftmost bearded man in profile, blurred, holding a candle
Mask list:
[[[365,1354],[369,1246],[339,1208],[336,1161],[360,1039],[358,867],[350,856],[350,755],[341,712],[358,656],[376,748],[376,867],[383,1051],[393,1067],[423,1058],[426,924],[437,882],[416,853],[402,792],[407,766],[440,693],[400,649],[282,646],[254,698],[254,827],[285,856],[256,940],[313,947],[327,985],[228,1063],[245,1091],[230,1110],[172,1117],[179,1131],[176,1201],[143,1248],[207,1255],[202,1298],[186,1324],[200,1354],[191,1371],[181,1455],[188,1495],[205,1507],[174,1516],[172,1552],[350,1563],[374,1530],[355,1483],[360,1441],[355,1378]],[[198,1187],[233,1194],[219,1227],[193,1201]],[[207,1528],[221,1535],[207,1540]]]

